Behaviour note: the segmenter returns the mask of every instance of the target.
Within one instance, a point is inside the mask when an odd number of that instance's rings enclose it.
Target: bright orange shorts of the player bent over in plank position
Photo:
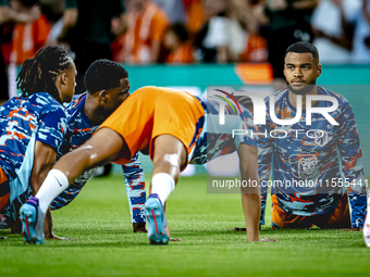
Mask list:
[[[189,154],[202,130],[198,122],[205,116],[199,101],[185,91],[159,87],[136,90],[100,126],[120,134],[131,158],[119,158],[126,164],[137,151],[148,151],[153,159],[152,143],[160,135],[171,135],[183,142]]]

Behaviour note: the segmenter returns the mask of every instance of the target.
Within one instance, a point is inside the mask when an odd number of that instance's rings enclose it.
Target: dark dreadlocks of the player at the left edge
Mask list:
[[[40,49],[32,59],[27,59],[16,77],[16,87],[22,90],[22,97],[36,92],[48,92],[58,102],[62,102],[55,87],[55,79],[70,68],[72,59],[61,48],[47,47]]]

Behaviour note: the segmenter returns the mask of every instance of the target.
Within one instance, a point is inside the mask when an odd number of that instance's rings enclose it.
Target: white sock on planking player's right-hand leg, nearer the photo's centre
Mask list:
[[[157,173],[151,178],[151,193],[157,193],[162,204],[175,188],[175,180],[166,173]]]

